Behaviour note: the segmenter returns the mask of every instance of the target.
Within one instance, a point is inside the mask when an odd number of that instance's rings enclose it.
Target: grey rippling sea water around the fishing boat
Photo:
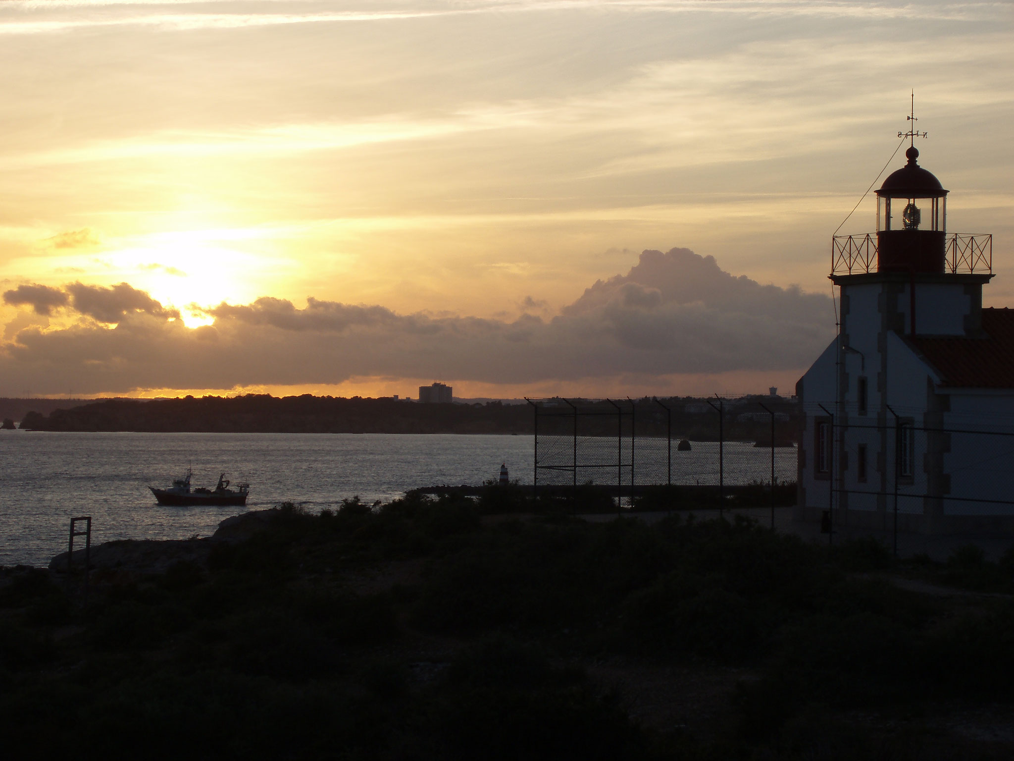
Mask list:
[[[417,487],[478,486],[498,478],[501,464],[511,480],[530,484],[533,443],[530,435],[0,430],[0,565],[48,565],[67,549],[70,520],[79,515],[91,516],[92,544],[210,536],[243,508],[163,507],[148,489],[168,486],[188,468],[194,486],[214,488],[223,472],[233,484],[248,482],[246,509],[290,501],[319,511],[357,495],[388,502]],[[673,441],[672,482],[717,483],[718,444],[692,445],[676,452]],[[665,441],[638,446],[657,466]],[[769,480],[770,458],[770,449],[727,441],[725,482]],[[776,459],[777,477],[794,478],[796,451],[777,449]],[[614,472],[594,480],[614,483]],[[663,483],[666,476],[654,469]]]

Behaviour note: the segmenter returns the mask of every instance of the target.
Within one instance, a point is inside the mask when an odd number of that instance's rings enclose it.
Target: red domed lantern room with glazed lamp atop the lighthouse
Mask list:
[[[943,273],[947,226],[947,191],[917,162],[892,172],[877,191],[877,270]]]

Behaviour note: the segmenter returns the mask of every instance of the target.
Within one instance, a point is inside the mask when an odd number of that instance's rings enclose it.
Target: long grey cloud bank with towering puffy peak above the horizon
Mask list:
[[[518,385],[785,370],[807,366],[834,331],[826,296],[736,278],[683,249],[645,252],[627,275],[595,283],[552,320],[397,315],[317,299],[297,308],[260,298],[210,308],[213,325],[189,329],[128,288],[71,291],[75,307],[116,328],[26,328],[4,346],[0,384],[122,393],[361,375]],[[78,306],[79,293],[95,301],[82,298]]]

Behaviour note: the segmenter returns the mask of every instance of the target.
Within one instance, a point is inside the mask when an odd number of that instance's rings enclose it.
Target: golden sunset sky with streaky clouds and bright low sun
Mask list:
[[[1011,2],[0,0],[0,396],[789,392],[913,88],[1014,306]]]

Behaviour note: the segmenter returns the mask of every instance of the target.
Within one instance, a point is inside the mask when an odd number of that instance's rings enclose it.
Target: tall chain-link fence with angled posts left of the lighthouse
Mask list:
[[[775,398],[528,400],[533,483],[560,492],[593,484],[630,502],[651,487],[723,500],[796,478],[795,404]],[[719,504],[722,504],[719,501]]]

